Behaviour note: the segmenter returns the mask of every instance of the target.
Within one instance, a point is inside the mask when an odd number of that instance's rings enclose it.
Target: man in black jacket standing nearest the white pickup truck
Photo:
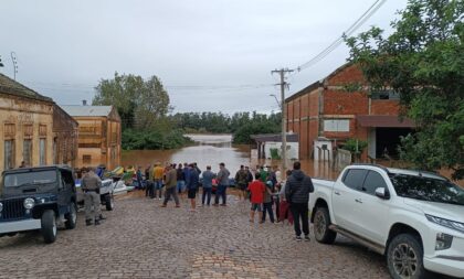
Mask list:
[[[310,178],[300,168],[299,162],[293,164],[292,175],[285,186],[285,196],[287,202],[291,203],[296,240],[302,240],[302,228],[299,226],[299,219],[302,219],[305,240],[309,242],[308,201],[309,193],[314,192],[314,186]]]

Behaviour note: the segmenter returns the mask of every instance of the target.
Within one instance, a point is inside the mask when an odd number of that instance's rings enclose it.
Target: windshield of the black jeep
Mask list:
[[[6,187],[53,183],[56,182],[56,171],[9,173],[4,175],[3,182]]]

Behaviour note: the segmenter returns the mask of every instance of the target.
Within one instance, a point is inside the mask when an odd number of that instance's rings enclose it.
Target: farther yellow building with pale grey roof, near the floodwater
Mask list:
[[[78,122],[77,167],[120,163],[120,117],[113,106],[61,106]]]

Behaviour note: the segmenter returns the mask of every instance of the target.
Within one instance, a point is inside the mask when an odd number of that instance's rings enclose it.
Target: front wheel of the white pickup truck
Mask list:
[[[394,279],[428,278],[423,265],[423,248],[416,236],[397,235],[388,245],[387,264],[390,276]]]

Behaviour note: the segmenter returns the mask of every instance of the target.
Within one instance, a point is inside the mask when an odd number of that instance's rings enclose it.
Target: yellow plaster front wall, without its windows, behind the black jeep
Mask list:
[[[6,125],[14,125],[12,135],[6,135]],[[31,165],[39,165],[41,138],[45,139],[45,164],[53,163],[53,103],[0,93],[0,172],[4,170],[6,139],[14,140],[14,167],[19,167],[23,161],[27,125],[32,126]]]

